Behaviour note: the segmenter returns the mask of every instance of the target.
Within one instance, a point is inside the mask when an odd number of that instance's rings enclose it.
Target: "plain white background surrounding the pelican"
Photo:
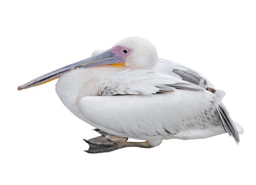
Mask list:
[[[255,184],[253,1],[1,1],[0,184]],[[128,36],[155,44],[226,91],[245,129],[87,154],[97,134],[61,103],[55,81],[17,86]]]

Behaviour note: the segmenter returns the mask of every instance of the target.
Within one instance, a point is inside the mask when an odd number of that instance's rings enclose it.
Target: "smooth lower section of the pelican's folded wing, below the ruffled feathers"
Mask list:
[[[142,138],[221,126],[214,94],[178,89],[163,94],[90,96],[79,103],[82,114],[104,132]]]

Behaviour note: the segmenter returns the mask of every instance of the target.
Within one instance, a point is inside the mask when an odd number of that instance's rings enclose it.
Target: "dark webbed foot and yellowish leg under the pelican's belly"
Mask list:
[[[94,131],[102,134],[101,136],[91,138],[90,140],[84,140],[89,144],[89,149],[85,150],[87,153],[103,153],[111,152],[114,150],[122,149],[124,147],[143,147],[151,148],[153,146],[149,145],[148,142],[127,142],[127,137],[114,136],[99,129],[94,129]]]

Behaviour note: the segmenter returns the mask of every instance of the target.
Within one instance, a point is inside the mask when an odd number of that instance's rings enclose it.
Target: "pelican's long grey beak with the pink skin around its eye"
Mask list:
[[[113,47],[107,51],[104,51],[97,56],[93,56],[72,64],[69,64],[65,67],[59,68],[57,70],[51,71],[46,73],[45,75],[42,75],[38,78],[35,78],[29,82],[27,82],[24,85],[19,86],[17,89],[28,89],[30,87],[39,86],[41,84],[45,84],[51,80],[54,80],[56,78],[59,78],[61,75],[64,75],[65,73],[79,68],[91,68],[91,67],[98,67],[98,66],[105,66],[105,65],[119,65],[122,63],[125,63],[126,58],[131,53],[131,49],[117,46]]]

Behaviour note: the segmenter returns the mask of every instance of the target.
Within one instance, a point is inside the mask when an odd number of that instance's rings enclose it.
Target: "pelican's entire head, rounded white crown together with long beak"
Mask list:
[[[130,37],[121,40],[107,51],[48,72],[45,75],[19,86],[17,89],[22,90],[39,86],[54,80],[71,70],[80,68],[111,65],[114,67],[127,66],[131,69],[153,69],[157,63],[157,59],[157,52],[152,43],[143,38]]]

